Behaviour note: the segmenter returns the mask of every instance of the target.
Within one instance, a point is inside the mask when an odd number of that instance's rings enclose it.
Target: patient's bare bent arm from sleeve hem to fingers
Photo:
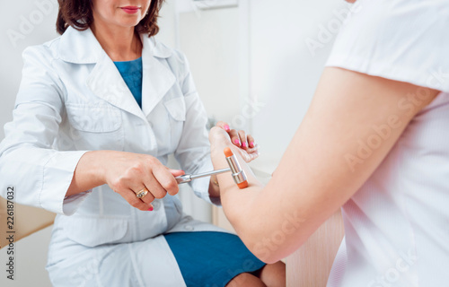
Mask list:
[[[409,121],[437,93],[409,83],[327,67],[311,107],[267,187],[252,176],[236,152],[250,187],[241,190],[231,177],[218,176],[225,214],[243,242],[269,263],[294,252],[357,192]],[[410,94],[415,98],[413,109],[403,109],[398,103]],[[373,135],[372,126],[383,125],[389,126],[390,135],[368,158],[357,160],[358,141]],[[223,150],[232,143],[224,140],[226,136],[218,128],[209,135],[216,169],[227,164]],[[279,231],[285,240],[270,243]]]

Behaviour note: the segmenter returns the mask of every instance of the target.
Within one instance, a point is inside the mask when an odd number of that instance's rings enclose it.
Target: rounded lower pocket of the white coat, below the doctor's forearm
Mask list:
[[[121,218],[70,218],[64,230],[66,236],[86,247],[95,247],[104,243],[115,243],[125,237],[128,221]]]

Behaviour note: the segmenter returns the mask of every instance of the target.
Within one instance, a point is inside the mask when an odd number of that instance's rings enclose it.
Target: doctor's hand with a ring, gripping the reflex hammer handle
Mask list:
[[[139,210],[152,211],[154,198],[178,193],[174,177],[184,174],[184,171],[169,170],[161,161],[147,154],[103,152],[109,153],[105,154],[107,160],[102,171],[104,182]],[[138,198],[139,192],[145,196]]]

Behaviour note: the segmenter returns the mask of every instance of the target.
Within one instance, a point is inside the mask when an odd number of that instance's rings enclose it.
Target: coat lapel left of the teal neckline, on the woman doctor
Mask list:
[[[105,52],[92,69],[87,86],[97,97],[146,120],[127,83]]]

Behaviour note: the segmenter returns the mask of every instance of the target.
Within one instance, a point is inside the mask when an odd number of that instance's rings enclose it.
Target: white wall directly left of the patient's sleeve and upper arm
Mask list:
[[[341,21],[343,1],[251,0],[251,97],[264,104],[252,132],[267,158],[278,161],[305,115],[332,47],[331,34],[314,54],[306,40]]]

